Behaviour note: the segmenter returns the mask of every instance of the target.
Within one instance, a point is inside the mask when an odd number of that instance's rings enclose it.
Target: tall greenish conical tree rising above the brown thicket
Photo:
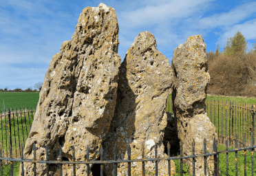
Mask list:
[[[246,53],[247,43],[241,32],[237,31],[235,36],[229,38],[224,47],[224,53],[226,56],[235,55],[238,53]]]

